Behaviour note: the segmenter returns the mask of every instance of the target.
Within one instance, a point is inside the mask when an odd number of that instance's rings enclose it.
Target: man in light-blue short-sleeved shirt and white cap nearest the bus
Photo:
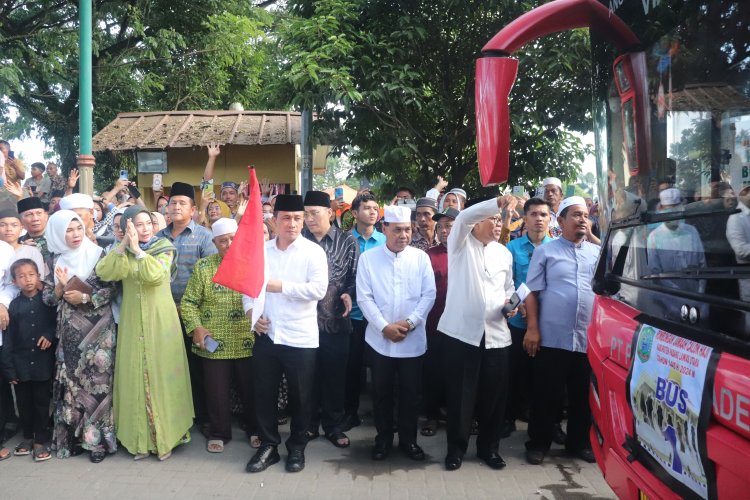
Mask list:
[[[531,415],[526,460],[544,461],[555,433],[565,391],[568,427],[565,449],[594,462],[588,439],[591,410],[588,387],[591,366],[586,357],[586,330],[591,321],[594,292],[591,279],[599,247],[586,241],[589,232],[586,202],[571,196],[560,203],[561,237],[538,247],[531,258],[526,286],[524,350],[534,359]]]

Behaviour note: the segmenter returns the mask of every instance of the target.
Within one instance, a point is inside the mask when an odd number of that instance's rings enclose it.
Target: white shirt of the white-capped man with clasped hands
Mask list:
[[[390,358],[413,358],[427,350],[425,320],[435,303],[435,274],[425,252],[406,247],[399,253],[381,245],[359,257],[357,304],[367,319],[365,341]],[[390,323],[409,319],[414,330],[400,342],[383,334]]]

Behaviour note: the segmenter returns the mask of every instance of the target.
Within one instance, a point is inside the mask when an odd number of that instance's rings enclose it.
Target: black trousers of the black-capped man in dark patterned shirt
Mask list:
[[[311,431],[322,425],[325,434],[341,432],[350,337],[348,333],[320,332]]]

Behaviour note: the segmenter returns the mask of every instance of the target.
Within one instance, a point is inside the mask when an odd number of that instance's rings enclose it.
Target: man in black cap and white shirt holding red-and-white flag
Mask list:
[[[232,245],[222,263],[226,265],[225,274],[231,272],[235,276],[229,280],[234,282],[233,286],[244,278],[257,284],[259,270],[264,268],[258,261],[251,265],[233,265],[240,261],[241,255],[255,253],[258,241],[261,244],[263,241],[260,192],[254,172],[251,172],[250,187],[250,203],[237,234],[240,245]],[[304,216],[301,196],[279,195],[276,198],[274,222],[278,235],[265,243],[265,287],[259,291],[242,287],[247,294],[243,297],[245,314],[254,322],[256,334],[253,373],[261,440],[260,448],[247,464],[248,472],[263,471],[280,460],[276,402],[282,373],[286,373],[289,383],[292,409],[291,435],[286,441],[289,452],[286,470],[299,472],[305,467],[305,431],[312,417],[318,348],[317,304],[328,288],[328,262],[319,245],[300,236]],[[227,260],[233,253],[235,259]],[[221,271],[217,273],[219,279]],[[230,286],[219,279],[215,281]]]

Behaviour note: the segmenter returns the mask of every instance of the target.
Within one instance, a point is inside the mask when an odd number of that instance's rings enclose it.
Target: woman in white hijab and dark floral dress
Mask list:
[[[82,450],[99,463],[117,451],[112,413],[114,285],[97,275],[102,249],[86,237],[72,210],[52,214],[44,234],[53,255],[43,300],[57,306],[57,370],[53,385],[57,456]]]

